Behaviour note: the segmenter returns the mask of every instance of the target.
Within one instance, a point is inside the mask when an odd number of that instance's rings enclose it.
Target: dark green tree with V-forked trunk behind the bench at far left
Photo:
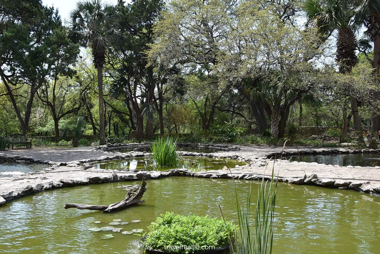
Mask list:
[[[35,94],[49,79],[67,72],[78,46],[67,45],[58,12],[39,0],[2,1],[0,20],[0,76],[26,134]],[[23,86],[28,87],[25,109],[15,98]]]

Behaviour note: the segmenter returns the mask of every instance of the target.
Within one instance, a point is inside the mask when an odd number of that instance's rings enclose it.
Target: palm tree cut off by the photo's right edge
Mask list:
[[[367,28],[366,34],[374,43],[374,61],[372,68],[374,74],[379,78],[380,69],[380,1],[379,0],[365,0],[360,1],[355,15],[356,24],[364,25]],[[374,91],[373,99],[378,101],[380,99],[379,91]],[[372,111],[372,130],[371,133],[377,133],[380,129],[380,116],[378,110]]]

